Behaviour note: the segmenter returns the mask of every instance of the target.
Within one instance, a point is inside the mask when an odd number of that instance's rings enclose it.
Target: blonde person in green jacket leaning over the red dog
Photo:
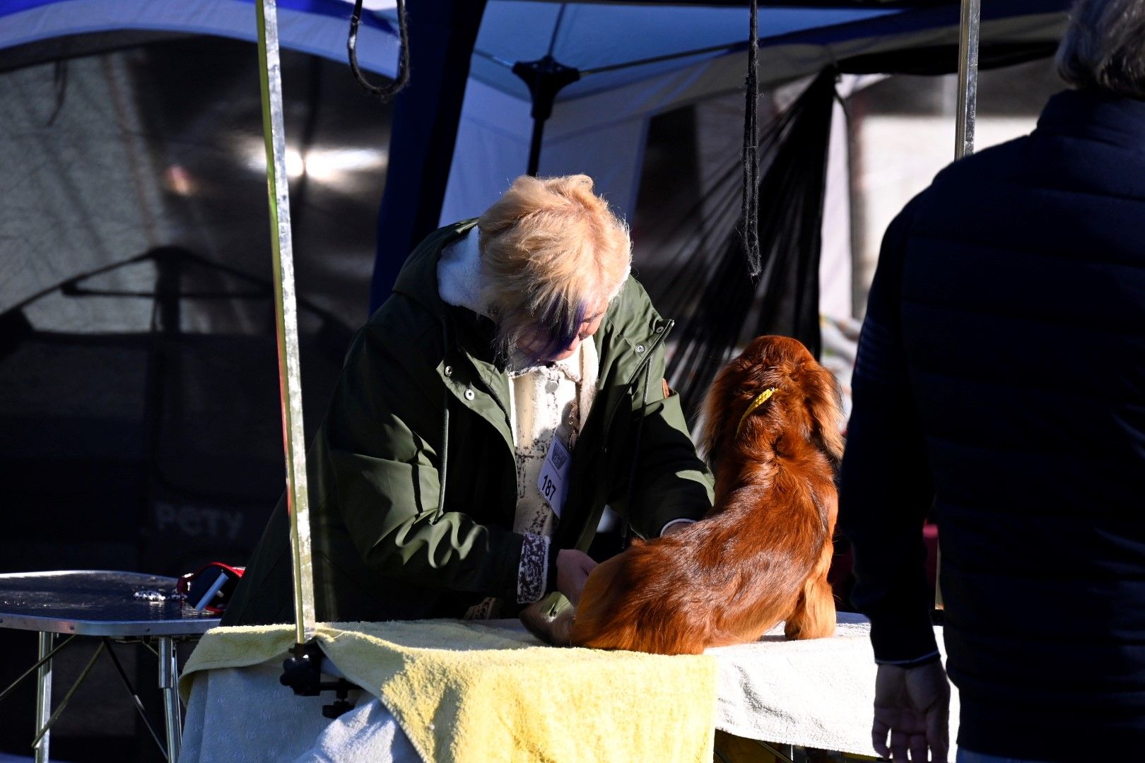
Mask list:
[[[409,256],[309,454],[322,621],[512,617],[579,597],[611,506],[641,537],[711,475],[661,380],[671,321],[585,175],[519,177]],[[291,622],[284,501],[224,625]]]

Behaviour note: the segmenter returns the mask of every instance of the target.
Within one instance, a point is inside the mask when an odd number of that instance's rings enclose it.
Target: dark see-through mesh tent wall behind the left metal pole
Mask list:
[[[285,484],[255,47],[64,42],[0,72],[0,570],[243,564]],[[390,112],[340,64],[283,67],[313,431],[365,313]],[[161,708],[153,660],[117,651]],[[35,638],[2,630],[0,653],[6,686]],[[57,701],[88,657],[56,660]],[[0,749],[27,754],[33,689]],[[97,661],[53,755],[160,760],[121,691]]]

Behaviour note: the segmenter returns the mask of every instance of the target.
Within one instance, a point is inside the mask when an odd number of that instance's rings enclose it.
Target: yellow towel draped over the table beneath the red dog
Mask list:
[[[539,646],[456,620],[319,625],[323,652],[427,763],[712,760],[716,658]],[[215,628],[180,679],[283,659],[292,626]],[[285,691],[285,690],[284,690]]]

